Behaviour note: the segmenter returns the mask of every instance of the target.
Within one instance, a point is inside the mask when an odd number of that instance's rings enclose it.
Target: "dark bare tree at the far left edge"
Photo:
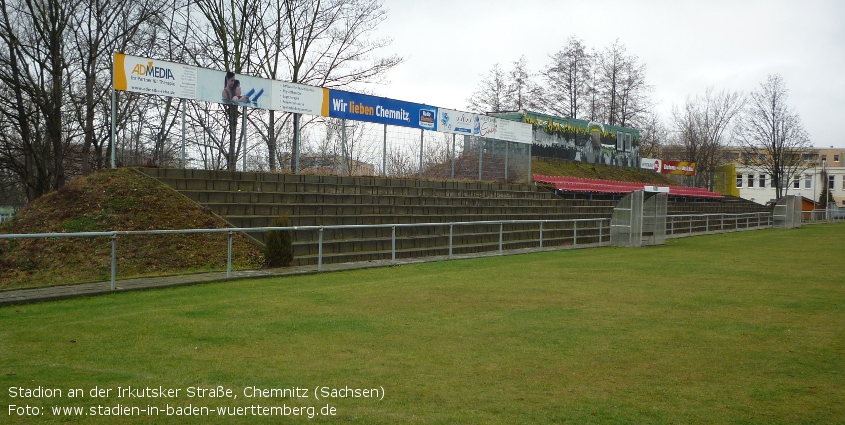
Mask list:
[[[3,115],[12,134],[2,135],[2,161],[32,200],[67,179],[67,45],[76,5],[59,0],[0,2],[0,84]],[[15,134],[16,133],[16,134]]]

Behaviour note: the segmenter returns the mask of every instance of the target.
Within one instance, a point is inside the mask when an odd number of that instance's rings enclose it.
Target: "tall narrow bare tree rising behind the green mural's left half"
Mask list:
[[[581,39],[572,36],[566,45],[550,56],[546,67],[544,96],[546,109],[562,117],[582,118],[588,114],[593,59]]]

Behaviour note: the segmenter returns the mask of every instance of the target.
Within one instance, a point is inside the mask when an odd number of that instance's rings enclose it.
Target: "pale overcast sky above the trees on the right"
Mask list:
[[[495,63],[525,55],[537,72],[575,35],[604,49],[616,39],[646,65],[664,117],[709,86],[748,93],[783,76],[789,104],[817,147],[845,148],[842,0],[385,0],[384,53],[406,61],[378,95],[467,109]],[[842,125],[845,127],[845,125]]]

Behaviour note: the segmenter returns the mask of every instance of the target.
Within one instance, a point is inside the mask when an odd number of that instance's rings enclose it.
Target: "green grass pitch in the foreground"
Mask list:
[[[164,423],[843,423],[844,237],[805,226],[0,308],[0,422],[151,419],[91,416],[120,405]],[[130,386],[180,392],[116,396]],[[188,396],[217,386],[237,398]],[[38,387],[62,394],[21,397]],[[18,416],[27,405],[41,414]]]

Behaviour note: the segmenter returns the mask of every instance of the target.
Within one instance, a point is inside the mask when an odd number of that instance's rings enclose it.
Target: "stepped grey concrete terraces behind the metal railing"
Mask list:
[[[610,218],[616,205],[612,199],[561,199],[546,188],[526,184],[158,168],[139,171],[240,228],[269,226],[273,218],[285,214],[293,226]],[[739,205],[737,208],[749,207]],[[723,212],[728,206],[733,204],[670,203],[669,213],[720,208]],[[598,242],[596,226],[578,225],[577,242]],[[601,237],[607,241],[609,229],[607,223],[603,226]],[[391,233],[389,227],[325,229],[323,263],[389,259]],[[572,223],[545,224],[543,244],[571,244],[573,233]],[[502,227],[503,248],[537,247],[538,234],[537,224],[506,224]],[[264,240],[261,232],[249,232],[248,236],[256,243]],[[293,232],[296,265],[316,264],[318,238],[317,230]],[[452,243],[454,254],[497,250],[499,225],[455,226]],[[397,258],[446,255],[448,244],[448,226],[396,229]]]

